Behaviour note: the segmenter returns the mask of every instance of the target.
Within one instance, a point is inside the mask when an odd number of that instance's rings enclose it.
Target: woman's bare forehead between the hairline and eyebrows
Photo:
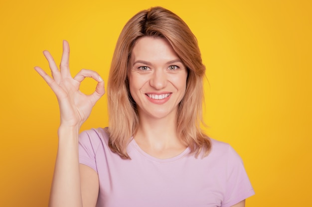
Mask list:
[[[131,61],[137,60],[148,62],[179,60],[169,41],[159,37],[139,38],[131,52]]]

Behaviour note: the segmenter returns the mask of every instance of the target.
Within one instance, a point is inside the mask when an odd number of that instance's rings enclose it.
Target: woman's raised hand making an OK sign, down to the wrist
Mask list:
[[[49,62],[52,77],[40,67],[34,69],[41,75],[55,93],[61,116],[61,125],[73,127],[81,126],[89,117],[92,107],[104,95],[104,81],[93,70],[82,69],[73,78],[69,71],[69,44],[63,41],[63,54],[60,69],[57,68],[53,57],[48,51],[43,54]],[[86,95],[79,90],[80,83],[85,77],[92,77],[98,84],[91,95]]]

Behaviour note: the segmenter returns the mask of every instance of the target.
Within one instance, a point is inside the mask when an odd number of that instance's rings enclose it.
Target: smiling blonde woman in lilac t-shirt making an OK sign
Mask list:
[[[61,114],[50,206],[244,207],[254,194],[237,153],[200,128],[202,64],[196,38],[174,13],[154,7],[122,30],[108,81],[109,127],[78,136],[104,94],[92,70],[69,72],[63,42],[60,70],[44,51]],[[98,81],[92,95],[79,91]]]

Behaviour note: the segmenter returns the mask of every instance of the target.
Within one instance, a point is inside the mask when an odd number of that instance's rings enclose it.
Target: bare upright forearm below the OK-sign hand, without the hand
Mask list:
[[[58,129],[58,151],[49,207],[82,207],[79,157],[79,127]]]

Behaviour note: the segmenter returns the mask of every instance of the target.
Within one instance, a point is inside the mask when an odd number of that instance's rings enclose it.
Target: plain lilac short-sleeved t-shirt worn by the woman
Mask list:
[[[92,129],[79,136],[79,160],[98,173],[97,207],[231,207],[254,195],[239,155],[229,144],[211,141],[204,158],[186,148],[157,159],[132,139],[126,160],[110,150],[104,129]]]

